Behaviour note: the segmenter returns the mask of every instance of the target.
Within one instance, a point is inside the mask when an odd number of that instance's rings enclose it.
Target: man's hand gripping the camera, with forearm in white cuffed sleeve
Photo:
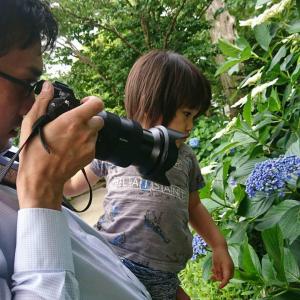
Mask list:
[[[40,97],[24,118],[21,144],[29,136],[35,120],[45,113],[52,94],[52,86],[44,85]],[[61,199],[64,183],[94,157],[97,132],[103,121],[93,116],[102,107],[99,99],[91,97],[46,125],[44,134],[50,154],[38,137],[21,152],[13,299],[80,297]],[[7,299],[11,298],[7,296]]]

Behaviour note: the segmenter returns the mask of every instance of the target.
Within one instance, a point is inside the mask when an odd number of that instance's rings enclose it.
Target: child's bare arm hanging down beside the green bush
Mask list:
[[[189,218],[192,227],[212,248],[212,279],[221,281],[219,287],[223,288],[233,276],[233,262],[224,237],[207,209],[202,205],[197,191],[190,194]]]

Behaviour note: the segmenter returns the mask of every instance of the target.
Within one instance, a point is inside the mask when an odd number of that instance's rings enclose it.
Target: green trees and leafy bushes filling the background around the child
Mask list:
[[[226,236],[235,276],[223,290],[211,283],[208,251],[180,275],[192,299],[300,299],[299,176],[283,197],[245,192],[258,162],[300,156],[299,1],[219,1],[214,20],[229,12],[236,36],[217,45],[206,18],[213,1],[50,2],[61,38],[47,65],[69,66],[52,77],[71,85],[78,98],[100,95],[107,109],[124,114],[127,74],[152,48],[185,55],[212,82],[213,108],[192,137],[200,140],[200,166],[210,166],[200,196]],[[217,55],[225,57],[222,65]],[[223,74],[236,82],[230,97]]]

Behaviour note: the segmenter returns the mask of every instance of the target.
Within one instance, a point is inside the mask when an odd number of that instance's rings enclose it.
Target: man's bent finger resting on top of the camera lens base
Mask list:
[[[84,103],[69,111],[69,115],[74,118],[80,118],[83,121],[88,121],[93,116],[102,111],[103,102],[94,96],[85,98]]]

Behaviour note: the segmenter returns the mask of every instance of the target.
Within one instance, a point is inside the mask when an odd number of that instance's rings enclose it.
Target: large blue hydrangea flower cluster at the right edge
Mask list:
[[[287,181],[292,176],[300,176],[300,157],[280,156],[268,159],[255,165],[246,181],[246,193],[250,198],[256,192],[264,192],[268,196],[277,193],[284,196]]]

